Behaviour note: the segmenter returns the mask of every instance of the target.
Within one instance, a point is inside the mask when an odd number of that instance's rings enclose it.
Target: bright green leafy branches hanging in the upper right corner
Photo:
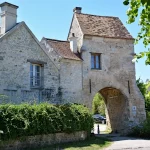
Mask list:
[[[141,30],[135,40],[137,44],[138,41],[142,40],[145,47],[150,44],[150,0],[124,0],[124,5],[128,5],[129,9],[127,11],[128,21],[131,24],[139,17],[139,25]],[[135,56],[137,61],[140,58],[146,56],[146,65],[150,65],[150,48],[145,52],[140,52]]]

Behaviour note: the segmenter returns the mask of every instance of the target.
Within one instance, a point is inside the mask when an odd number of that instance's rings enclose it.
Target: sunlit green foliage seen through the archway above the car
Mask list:
[[[92,103],[93,114],[101,114],[105,116],[105,103],[102,96],[97,93],[93,98]]]

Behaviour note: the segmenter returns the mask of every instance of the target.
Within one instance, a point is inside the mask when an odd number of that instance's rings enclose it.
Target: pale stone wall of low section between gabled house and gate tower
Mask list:
[[[82,103],[82,61],[61,60],[60,85],[65,103]]]

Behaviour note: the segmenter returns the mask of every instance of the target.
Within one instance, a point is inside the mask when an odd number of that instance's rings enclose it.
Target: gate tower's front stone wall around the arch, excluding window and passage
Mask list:
[[[125,109],[124,113],[128,117],[120,126],[126,124],[127,129],[145,120],[144,98],[136,85],[135,64],[132,63],[133,40],[85,36],[83,47],[83,103],[91,108],[97,92],[107,87],[115,88],[127,101],[128,111]],[[91,53],[101,53],[101,70],[91,69]],[[112,109],[119,107],[114,105]]]

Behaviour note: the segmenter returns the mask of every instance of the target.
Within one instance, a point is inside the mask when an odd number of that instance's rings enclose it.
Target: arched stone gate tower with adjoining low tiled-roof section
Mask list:
[[[97,92],[105,99],[107,122],[122,133],[146,119],[135,78],[134,39],[117,17],[82,13],[76,7],[68,41],[43,38],[51,58],[57,52],[62,99],[92,108]],[[53,50],[53,51],[52,51]],[[57,60],[57,59],[55,59]]]

